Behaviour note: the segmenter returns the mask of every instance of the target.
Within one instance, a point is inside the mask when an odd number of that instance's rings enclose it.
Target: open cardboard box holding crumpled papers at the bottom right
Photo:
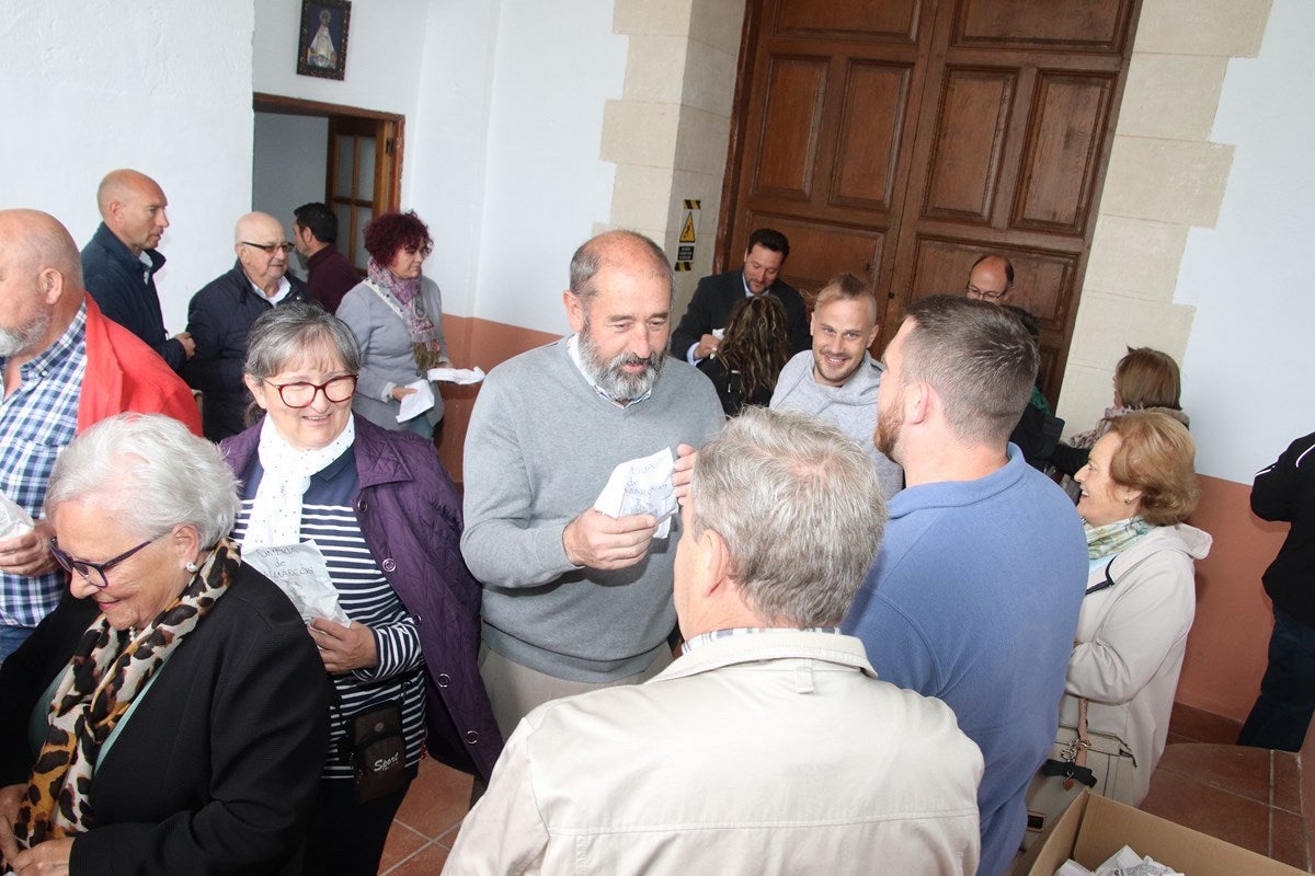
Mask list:
[[[1095,869],[1123,846],[1151,855],[1186,876],[1290,876],[1303,871],[1215,837],[1084,792],[1014,868],[1027,876],[1053,876],[1072,858]]]

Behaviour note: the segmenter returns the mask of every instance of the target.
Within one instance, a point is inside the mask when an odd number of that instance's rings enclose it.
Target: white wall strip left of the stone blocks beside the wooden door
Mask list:
[[[472,315],[565,332],[571,253],[611,214],[615,165],[598,154],[627,41],[611,33],[610,3],[498,5]]]

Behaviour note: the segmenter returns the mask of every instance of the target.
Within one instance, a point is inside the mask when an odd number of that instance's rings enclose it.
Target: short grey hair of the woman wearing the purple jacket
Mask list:
[[[360,345],[347,323],[320,305],[289,301],[251,323],[243,370],[266,380],[320,349],[337,355],[347,372],[360,373]]]

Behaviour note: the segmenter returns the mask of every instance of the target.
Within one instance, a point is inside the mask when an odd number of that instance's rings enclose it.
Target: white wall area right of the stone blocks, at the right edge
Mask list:
[[[1315,5],[1274,0],[1235,59],[1211,139],[1235,143],[1215,229],[1193,229],[1174,299],[1197,306],[1182,362],[1197,470],[1249,483],[1315,431]]]

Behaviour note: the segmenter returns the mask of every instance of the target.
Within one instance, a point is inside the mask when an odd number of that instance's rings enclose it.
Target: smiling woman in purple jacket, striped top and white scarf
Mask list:
[[[304,873],[377,872],[422,745],[484,779],[502,746],[476,665],[480,587],[462,561],[456,490],[427,441],[352,414],[360,373],[341,319],[271,310],[246,360],[264,418],[222,444],[243,483],[243,556],[299,545],[296,565],[323,570],[342,612],[308,617],[334,697]]]

